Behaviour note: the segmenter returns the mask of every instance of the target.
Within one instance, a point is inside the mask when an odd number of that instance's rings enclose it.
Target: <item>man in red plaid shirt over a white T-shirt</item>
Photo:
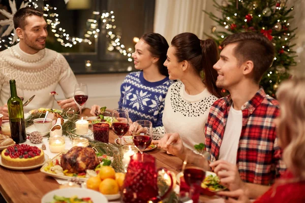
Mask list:
[[[210,109],[205,147],[221,182],[231,190],[247,188],[248,196],[255,198],[268,189],[263,185],[271,184],[286,170],[273,122],[279,116],[279,104],[259,86],[275,51],[267,38],[250,32],[227,37],[222,48],[214,65],[216,85],[230,95]],[[166,134],[159,145],[182,159],[188,151],[177,133]]]

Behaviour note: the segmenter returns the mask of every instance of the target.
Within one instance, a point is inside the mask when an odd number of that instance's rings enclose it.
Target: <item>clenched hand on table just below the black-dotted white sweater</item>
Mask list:
[[[178,133],[166,133],[161,140],[156,140],[153,142],[158,144],[158,148],[162,148],[167,153],[172,155],[180,155],[184,153],[185,146],[182,143],[182,140]]]

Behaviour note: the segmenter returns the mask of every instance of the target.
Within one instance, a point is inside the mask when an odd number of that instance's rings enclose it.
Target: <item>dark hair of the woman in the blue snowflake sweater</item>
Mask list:
[[[158,69],[159,72],[168,77],[168,71],[167,71],[167,67],[165,67],[163,65],[163,63],[166,60],[166,54],[167,54],[167,50],[168,50],[168,43],[165,40],[165,38],[158,34],[158,33],[154,33],[154,32],[148,32],[145,33],[141,39],[149,45],[149,52],[151,53],[152,56],[159,58],[157,65],[158,65]]]

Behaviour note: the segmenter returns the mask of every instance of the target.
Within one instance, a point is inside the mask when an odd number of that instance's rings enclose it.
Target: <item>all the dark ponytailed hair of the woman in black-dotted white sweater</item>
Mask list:
[[[175,47],[175,56],[178,61],[187,60],[192,64],[198,75],[203,71],[203,83],[209,92],[222,97],[221,89],[216,86],[217,71],[213,65],[218,61],[218,47],[214,40],[199,40],[190,32],[181,33],[173,38],[171,45]]]

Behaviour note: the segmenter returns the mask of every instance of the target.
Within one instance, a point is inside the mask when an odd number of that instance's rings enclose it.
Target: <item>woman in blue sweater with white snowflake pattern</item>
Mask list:
[[[163,65],[168,47],[165,38],[153,32],[145,33],[135,45],[132,57],[135,69],[141,71],[126,76],[118,101],[118,108],[127,109],[132,121],[149,120],[153,127],[163,126],[164,100],[173,83]],[[94,105],[91,113],[99,109]]]

